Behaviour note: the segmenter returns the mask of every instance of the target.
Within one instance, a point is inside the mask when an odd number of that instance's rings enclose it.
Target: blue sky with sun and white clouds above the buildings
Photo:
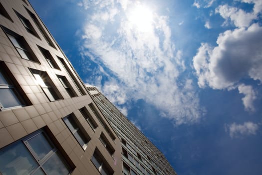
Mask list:
[[[178,174],[262,173],[261,0],[30,0]]]

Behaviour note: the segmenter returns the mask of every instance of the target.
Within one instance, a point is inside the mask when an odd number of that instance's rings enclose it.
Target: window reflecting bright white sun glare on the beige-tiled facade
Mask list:
[[[41,86],[42,90],[50,101],[60,99],[55,92],[54,85],[46,72],[34,69],[30,70],[32,71],[36,82]]]

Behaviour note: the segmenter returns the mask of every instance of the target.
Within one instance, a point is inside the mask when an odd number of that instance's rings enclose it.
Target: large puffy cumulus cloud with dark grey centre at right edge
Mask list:
[[[193,58],[200,87],[236,88],[250,76],[262,81],[262,27],[236,28],[220,33],[218,46],[202,43]]]

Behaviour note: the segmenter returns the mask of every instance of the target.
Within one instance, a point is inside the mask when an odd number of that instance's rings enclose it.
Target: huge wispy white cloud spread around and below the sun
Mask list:
[[[171,41],[168,16],[132,0],[91,1],[89,6],[96,10],[85,23],[81,51],[84,59],[110,72],[99,83],[110,100],[143,99],[176,124],[197,122],[203,110],[192,80],[180,77],[186,67]]]

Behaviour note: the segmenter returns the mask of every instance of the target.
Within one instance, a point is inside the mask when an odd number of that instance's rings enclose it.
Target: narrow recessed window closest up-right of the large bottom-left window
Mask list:
[[[79,128],[78,124],[75,121],[75,116],[71,113],[70,115],[67,115],[63,118],[65,124],[71,131],[71,133],[74,135],[75,139],[78,141],[78,143],[82,146],[82,148],[85,150],[87,147],[87,143],[90,140],[89,136],[85,136],[83,131]]]

